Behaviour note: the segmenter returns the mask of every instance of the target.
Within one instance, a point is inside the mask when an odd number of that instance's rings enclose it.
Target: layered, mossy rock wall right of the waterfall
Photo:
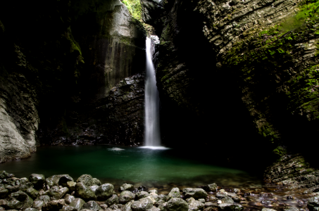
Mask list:
[[[220,144],[215,134],[245,140],[230,141],[227,151],[256,141],[266,153],[308,151],[318,136],[318,1],[165,1],[164,8],[156,76],[163,113],[174,110],[163,114],[164,133],[182,125],[183,138],[212,146]],[[306,144],[292,143],[301,139]]]

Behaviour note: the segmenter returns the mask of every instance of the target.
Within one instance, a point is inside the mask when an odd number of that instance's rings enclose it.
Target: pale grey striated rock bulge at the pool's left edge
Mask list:
[[[0,74],[0,162],[27,158],[37,146],[37,96],[24,75]]]

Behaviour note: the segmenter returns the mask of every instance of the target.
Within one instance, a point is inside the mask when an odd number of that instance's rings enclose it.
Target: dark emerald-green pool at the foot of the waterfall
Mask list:
[[[124,182],[162,188],[213,182],[227,187],[261,185],[261,179],[242,170],[219,166],[218,160],[204,163],[201,153],[106,145],[40,147],[30,158],[0,164],[0,170],[16,177],[32,173],[46,177],[70,174],[77,179],[82,174],[91,174],[115,186]]]

